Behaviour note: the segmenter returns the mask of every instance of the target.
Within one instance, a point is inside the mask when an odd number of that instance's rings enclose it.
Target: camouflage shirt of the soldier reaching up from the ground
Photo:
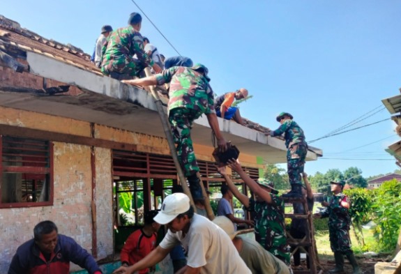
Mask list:
[[[255,239],[265,250],[289,265],[289,246],[285,236],[284,201],[271,194],[273,204],[250,199],[249,211],[255,211]]]

